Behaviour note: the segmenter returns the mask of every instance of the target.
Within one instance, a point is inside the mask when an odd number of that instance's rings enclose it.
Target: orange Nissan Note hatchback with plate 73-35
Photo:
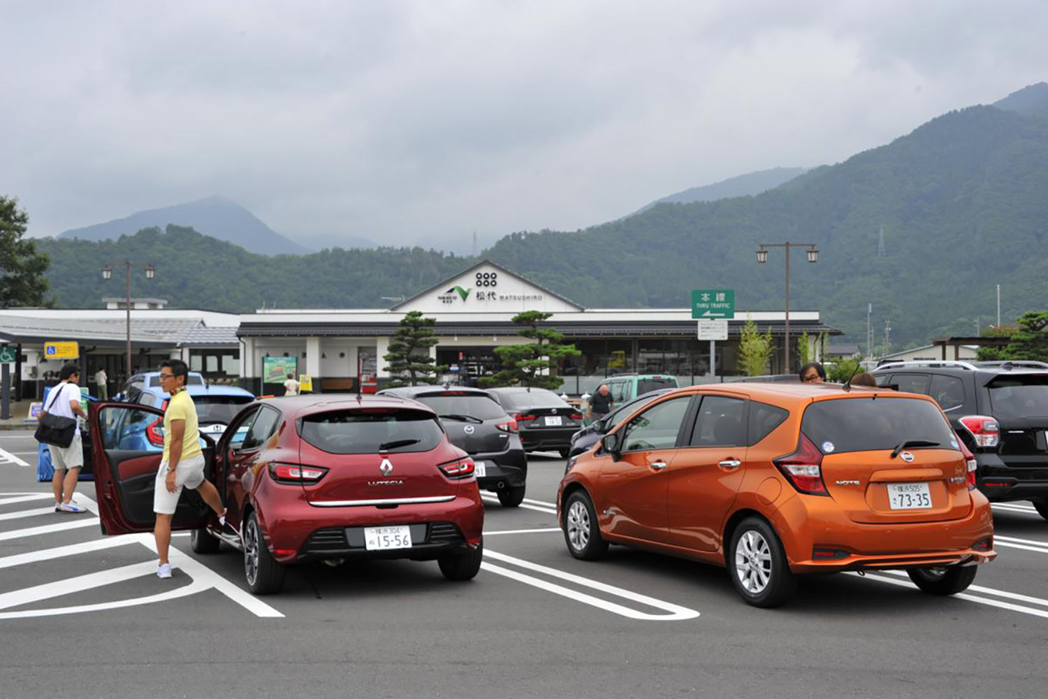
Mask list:
[[[726,566],[776,607],[800,573],[903,569],[956,594],[994,560],[974,460],[929,397],[836,384],[667,393],[568,461],[558,517],[576,559],[627,544]]]

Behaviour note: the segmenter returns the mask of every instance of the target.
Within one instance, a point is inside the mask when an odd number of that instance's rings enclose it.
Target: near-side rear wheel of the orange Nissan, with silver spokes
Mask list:
[[[725,563],[732,583],[747,605],[779,607],[796,590],[786,550],[765,520],[749,517],[732,533]]]

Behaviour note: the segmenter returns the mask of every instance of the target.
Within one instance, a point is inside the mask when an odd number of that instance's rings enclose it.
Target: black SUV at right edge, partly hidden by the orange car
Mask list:
[[[1048,520],[1048,365],[891,362],[878,386],[938,401],[975,454],[976,484],[994,502],[1031,500]]]

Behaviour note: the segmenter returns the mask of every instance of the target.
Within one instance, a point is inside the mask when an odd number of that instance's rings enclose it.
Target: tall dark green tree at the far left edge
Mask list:
[[[43,306],[50,260],[26,240],[29,216],[18,209],[18,199],[0,196],[0,308]]]

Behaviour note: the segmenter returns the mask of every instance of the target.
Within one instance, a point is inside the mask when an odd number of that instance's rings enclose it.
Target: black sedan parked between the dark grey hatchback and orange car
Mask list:
[[[546,389],[488,389],[517,420],[521,441],[528,452],[559,452],[567,458],[571,435],[583,424],[583,414]]]

